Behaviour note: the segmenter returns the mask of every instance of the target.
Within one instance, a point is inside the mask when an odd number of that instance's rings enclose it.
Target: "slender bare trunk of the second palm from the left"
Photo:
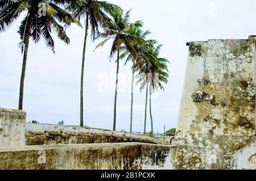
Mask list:
[[[84,127],[84,62],[85,62],[85,50],[86,41],[88,36],[88,15],[85,23],[85,35],[84,35],[84,48],[82,49],[82,70],[81,70],[81,85],[80,85],[80,127]]]

